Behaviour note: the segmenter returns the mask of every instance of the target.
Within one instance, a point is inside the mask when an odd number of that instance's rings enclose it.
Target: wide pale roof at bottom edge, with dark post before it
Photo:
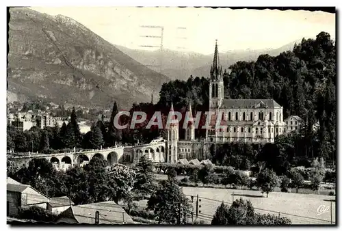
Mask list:
[[[134,224],[122,206],[112,201],[71,206],[60,213],[57,222],[95,224],[96,211],[98,224]]]

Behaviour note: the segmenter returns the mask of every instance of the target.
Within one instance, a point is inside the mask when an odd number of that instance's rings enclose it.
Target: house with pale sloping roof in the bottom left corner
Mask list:
[[[9,180],[10,182],[12,180]],[[25,206],[39,206],[47,209],[49,198],[38,192],[30,185],[23,185],[18,182],[7,184],[7,215],[15,217],[18,215],[18,208]]]

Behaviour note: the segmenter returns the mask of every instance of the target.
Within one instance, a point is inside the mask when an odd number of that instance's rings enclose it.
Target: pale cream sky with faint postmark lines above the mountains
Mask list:
[[[335,38],[335,14],[309,11],[231,10],[211,8],[115,8],[49,7],[38,12],[62,14],[75,19],[108,42],[129,49],[156,49],[213,53],[215,40],[220,52],[246,49],[277,49],[301,38],[315,38],[321,32]],[[179,27],[185,29],[178,29]]]

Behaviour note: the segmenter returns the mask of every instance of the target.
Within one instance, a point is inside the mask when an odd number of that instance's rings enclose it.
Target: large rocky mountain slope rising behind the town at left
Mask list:
[[[66,16],[11,8],[9,28],[8,101],[128,109],[170,80]]]

